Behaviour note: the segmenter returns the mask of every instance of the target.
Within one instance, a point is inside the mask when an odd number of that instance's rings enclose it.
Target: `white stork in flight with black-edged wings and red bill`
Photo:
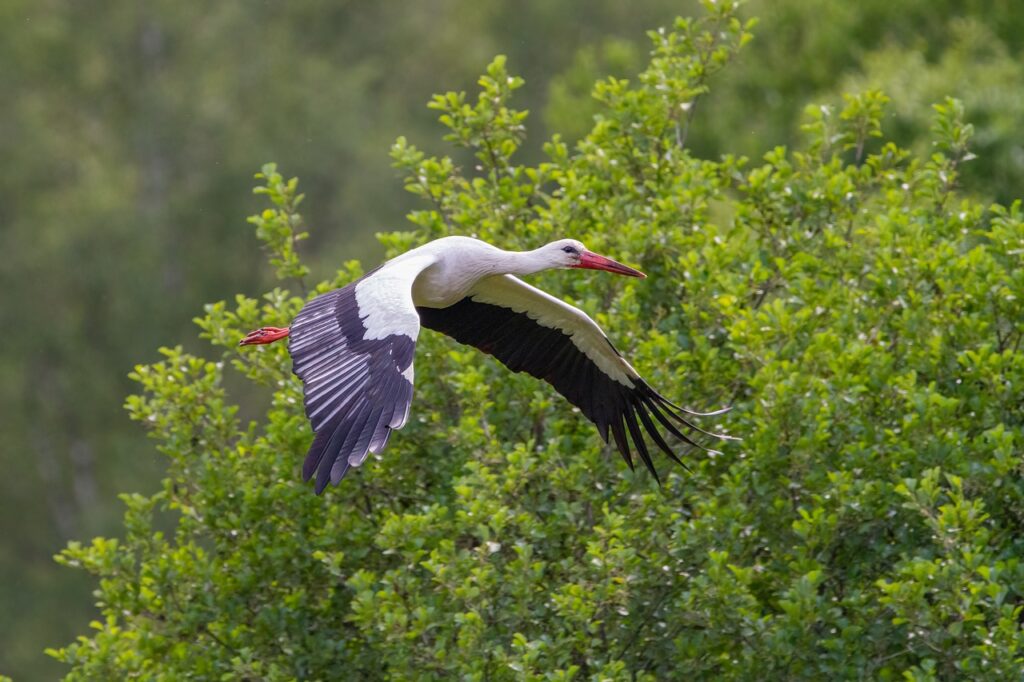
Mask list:
[[[556,267],[643,272],[588,251],[575,240],[534,251],[503,251],[479,240],[447,237],[387,261],[359,280],[306,303],[290,328],[264,327],[240,345],[290,337],[292,370],[302,380],[315,437],[302,467],[316,474],[316,494],[337,484],[369,453],[381,452],[409,419],[413,353],[420,327],[475,346],[513,372],[544,379],[608,433],[633,469],[627,432],[658,479],[643,432],[679,464],[655,421],[702,447],[680,427],[707,435],[651,388],[587,313],[515,275]],[[642,428],[641,428],[642,427]],[[684,465],[685,466],[685,465]],[[659,479],[658,479],[659,480]]]

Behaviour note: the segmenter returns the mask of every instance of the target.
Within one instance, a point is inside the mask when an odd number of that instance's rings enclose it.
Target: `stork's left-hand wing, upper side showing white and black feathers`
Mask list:
[[[302,476],[309,480],[315,472],[317,495],[369,453],[381,452],[409,419],[420,333],[412,287],[431,262],[392,261],[317,296],[292,323],[292,371],[302,379],[315,433]]]

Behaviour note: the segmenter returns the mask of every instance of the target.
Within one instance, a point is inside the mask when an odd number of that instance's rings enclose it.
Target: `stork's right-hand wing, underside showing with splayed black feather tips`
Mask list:
[[[481,280],[469,296],[450,307],[417,309],[423,327],[475,346],[513,372],[526,372],[554,386],[597,425],[605,442],[609,442],[610,431],[631,469],[632,439],[655,479],[657,471],[644,432],[682,464],[657,424],[701,449],[681,428],[727,437],[709,433],[687,419],[687,415],[712,416],[724,411],[700,414],[670,402],[637,374],[587,313],[512,275]]]

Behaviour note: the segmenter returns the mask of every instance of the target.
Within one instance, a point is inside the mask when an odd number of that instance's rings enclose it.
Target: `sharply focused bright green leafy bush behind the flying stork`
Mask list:
[[[286,349],[233,346],[303,298],[208,306],[217,360],[165,349],[133,374],[163,489],[123,498],[122,540],[60,555],[102,610],[53,651],[69,679],[1020,677],[1024,211],[959,193],[954,100],[930,155],[888,140],[866,91],[811,109],[799,148],[692,156],[692,102],[748,26],[708,3],[654,32],[636,81],[602,81],[593,129],[537,165],[496,59],[475,102],[431,104],[472,168],[395,143],[425,208],[382,238],[571,235],[638,263],[648,280],[536,281],[670,397],[733,404],[706,422],[740,443],[658,487],[549,387],[425,332],[415,418],[317,498]],[[269,170],[283,259],[298,195]],[[264,417],[240,419],[227,367],[272,391]]]

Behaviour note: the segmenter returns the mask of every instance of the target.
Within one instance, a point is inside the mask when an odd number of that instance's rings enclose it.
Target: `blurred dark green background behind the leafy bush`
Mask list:
[[[693,5],[0,2],[0,673],[60,674],[42,649],[94,611],[88,577],[52,555],[116,532],[118,493],[156,488],[162,462],[121,409],[128,371],[161,344],[195,344],[205,302],[270,284],[245,222],[262,163],[314,199],[304,250],[321,275],[372,264],[373,233],[414,205],[388,146],[402,134],[442,150],[431,93],[470,89],[507,54],[536,159],[551,133],[588,130],[594,80],[635,73],[644,32]],[[810,102],[865,87],[893,99],[887,133],[920,145],[928,104],[950,94],[977,128],[968,189],[1019,196],[1019,2],[764,0],[744,13],[761,19],[756,40],[700,101],[695,154],[760,157],[792,142]]]

